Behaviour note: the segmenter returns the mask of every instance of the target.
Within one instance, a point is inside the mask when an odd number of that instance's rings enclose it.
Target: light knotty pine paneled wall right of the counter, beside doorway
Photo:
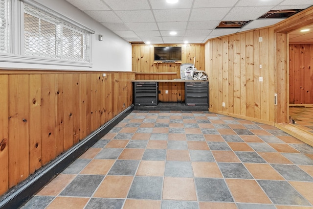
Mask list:
[[[273,27],[209,40],[205,53],[210,111],[273,123]],[[263,82],[259,77],[263,77]]]

